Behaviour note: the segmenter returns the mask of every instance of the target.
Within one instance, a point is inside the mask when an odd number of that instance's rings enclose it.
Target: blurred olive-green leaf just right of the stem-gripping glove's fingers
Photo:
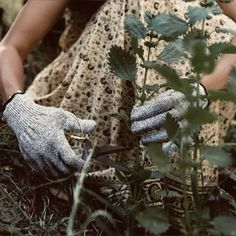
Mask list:
[[[210,113],[206,109],[191,106],[184,114],[184,118],[188,121],[190,126],[198,128],[203,124],[214,122],[216,120],[216,115]]]

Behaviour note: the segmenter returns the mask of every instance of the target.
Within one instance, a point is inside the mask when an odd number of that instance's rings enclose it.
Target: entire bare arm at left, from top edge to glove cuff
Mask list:
[[[23,90],[23,60],[51,29],[70,0],[28,0],[0,42],[0,97]]]

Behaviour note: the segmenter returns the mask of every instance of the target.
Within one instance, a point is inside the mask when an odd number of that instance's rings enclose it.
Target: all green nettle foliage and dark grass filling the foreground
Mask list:
[[[220,1],[223,2],[223,0]],[[178,172],[176,175],[178,174],[185,184],[186,177],[191,177],[190,186],[194,203],[187,197],[186,189],[180,193],[168,188],[166,180],[170,173],[175,174],[175,172],[167,154],[162,150],[162,146],[153,144],[144,149],[152,161],[158,165],[159,171],[145,169],[142,157],[139,155],[136,157],[133,168],[111,160],[107,161],[104,158],[100,159],[103,164],[115,167],[119,179],[130,187],[131,194],[125,205],[114,206],[107,199],[87,189],[87,186],[83,186],[81,193],[79,191],[78,194],[77,191],[77,195],[80,197],[77,199],[78,202],[74,202],[73,211],[70,212],[72,201],[67,197],[73,194],[71,189],[76,183],[76,177],[78,178],[76,186],[82,187],[80,176],[69,176],[54,181],[30,172],[26,163],[22,162],[14,135],[1,124],[0,199],[3,204],[0,206],[1,210],[6,207],[8,211],[8,213],[3,212],[3,214],[8,214],[4,216],[4,219],[0,218],[1,235],[65,235],[70,221],[73,221],[73,224],[69,224],[68,230],[71,235],[111,235],[114,232],[117,235],[235,234],[235,199],[233,195],[221,189],[222,182],[225,182],[226,179],[231,179],[235,184],[236,173],[230,168],[232,159],[225,150],[226,144],[209,146],[200,139],[201,126],[214,122],[216,117],[209,110],[203,110],[196,105],[198,98],[191,97],[192,88],[190,86],[193,82],[199,82],[202,73],[209,73],[213,70],[216,58],[220,54],[236,52],[235,46],[228,43],[208,44],[208,32],[204,30],[205,20],[221,13],[214,2],[206,0],[202,1],[198,7],[189,7],[186,19],[181,19],[173,14],[165,13],[154,16],[150,12],[146,12],[143,22],[137,16],[127,15],[125,27],[130,34],[132,52],[119,45],[114,45],[109,54],[111,71],[116,78],[132,82],[137,99],[141,102],[155,96],[162,87],[159,85],[159,81],[156,84],[148,84],[147,77],[150,70],[157,74],[157,78],[166,79],[164,86],[183,92],[189,100],[191,106],[183,115],[188,125],[180,129],[178,122],[168,115],[166,129],[171,140],[180,146],[180,157],[176,160],[176,167],[180,173]],[[231,29],[216,30],[235,33]],[[164,48],[159,55],[156,55],[156,60],[151,61],[150,54],[159,44],[164,44]],[[147,55],[144,52],[147,52]],[[174,69],[174,65],[183,60],[188,60],[192,66],[193,75],[189,80],[179,76]],[[142,85],[137,83],[139,69],[144,70]],[[235,76],[233,70],[227,91],[210,92],[208,98],[236,102]],[[127,114],[129,111],[121,110],[115,117],[129,124]],[[189,136],[194,139],[193,146],[186,142],[186,137]],[[233,145],[229,144],[230,148]],[[205,160],[217,164],[221,171],[226,173],[226,177],[224,176],[224,180],[212,193],[209,193],[209,196],[203,198],[199,194],[202,186],[197,181],[197,176],[203,175],[202,162]],[[82,175],[84,174],[82,173]],[[143,182],[151,177],[162,178],[163,190],[158,193],[158,196],[163,199],[166,208],[147,208],[145,205],[141,189]],[[56,189],[57,201],[48,189],[54,189],[54,191]],[[170,231],[171,222],[168,211],[169,204],[175,199],[181,199],[184,206],[184,217],[179,226],[180,232],[177,233]],[[221,208],[217,213],[209,212],[211,210],[209,210],[209,202],[212,201],[213,205],[220,205],[215,204],[217,199],[224,200],[230,205],[227,214],[222,212]],[[9,203],[11,207],[4,205],[6,203]],[[195,206],[194,212],[187,207],[191,204]],[[96,209],[104,210],[93,211],[94,205],[96,205]],[[69,215],[71,218],[68,217]],[[6,222],[7,218],[10,218],[11,221]],[[4,226],[1,226],[2,222]]]

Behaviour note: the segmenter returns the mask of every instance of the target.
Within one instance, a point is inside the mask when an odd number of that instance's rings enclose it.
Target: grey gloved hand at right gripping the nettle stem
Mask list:
[[[196,96],[197,84],[192,86],[192,96]],[[206,95],[205,88],[201,84],[199,95]],[[171,114],[176,120],[181,120],[181,113],[186,111],[189,105],[190,103],[183,93],[173,89],[167,90],[142,106],[134,106],[131,112],[131,130],[142,136],[141,142],[143,144],[168,142],[169,138],[165,129],[167,113]],[[199,106],[205,108],[207,105],[208,100],[200,97]],[[171,147],[171,145],[168,146]]]

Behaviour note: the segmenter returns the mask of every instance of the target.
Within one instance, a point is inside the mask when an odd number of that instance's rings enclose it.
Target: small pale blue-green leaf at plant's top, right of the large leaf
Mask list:
[[[188,7],[187,17],[191,25],[194,25],[198,21],[205,20],[208,15],[209,12],[205,7]]]

